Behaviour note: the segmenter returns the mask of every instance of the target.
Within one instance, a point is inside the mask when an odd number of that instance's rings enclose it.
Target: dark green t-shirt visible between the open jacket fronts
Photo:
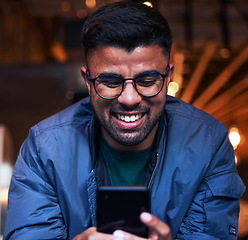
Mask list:
[[[143,185],[152,146],[137,152],[112,148],[101,136],[100,151],[112,186]]]

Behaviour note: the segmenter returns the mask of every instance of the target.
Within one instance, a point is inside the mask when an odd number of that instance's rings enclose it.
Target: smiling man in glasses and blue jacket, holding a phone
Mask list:
[[[100,185],[145,185],[149,239],[236,239],[244,192],[225,127],[167,97],[172,38],[156,10],[97,10],[82,30],[90,98],[33,127],[15,165],[6,239],[140,239],[96,230]]]

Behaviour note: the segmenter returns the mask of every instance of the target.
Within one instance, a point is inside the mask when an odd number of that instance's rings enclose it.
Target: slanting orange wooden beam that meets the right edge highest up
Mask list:
[[[218,75],[218,77],[203,91],[198,99],[193,102],[193,105],[198,108],[203,108],[206,103],[220,90],[220,88],[230,79],[230,77],[242,66],[248,59],[248,44],[242,51],[233,59],[233,61]]]

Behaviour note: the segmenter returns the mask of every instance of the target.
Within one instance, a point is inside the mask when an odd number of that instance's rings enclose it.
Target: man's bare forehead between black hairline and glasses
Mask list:
[[[88,54],[87,66],[94,75],[102,72],[136,74],[144,70],[164,71],[168,60],[163,48],[158,45],[140,46],[132,52],[116,47],[100,46]]]

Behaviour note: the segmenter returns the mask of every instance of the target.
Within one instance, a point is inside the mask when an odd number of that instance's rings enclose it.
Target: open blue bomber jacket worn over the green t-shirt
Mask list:
[[[107,183],[89,98],[34,126],[9,191],[4,240],[72,239],[96,224],[96,187]],[[146,184],[151,212],[175,239],[237,239],[237,174],[226,128],[168,97]]]

